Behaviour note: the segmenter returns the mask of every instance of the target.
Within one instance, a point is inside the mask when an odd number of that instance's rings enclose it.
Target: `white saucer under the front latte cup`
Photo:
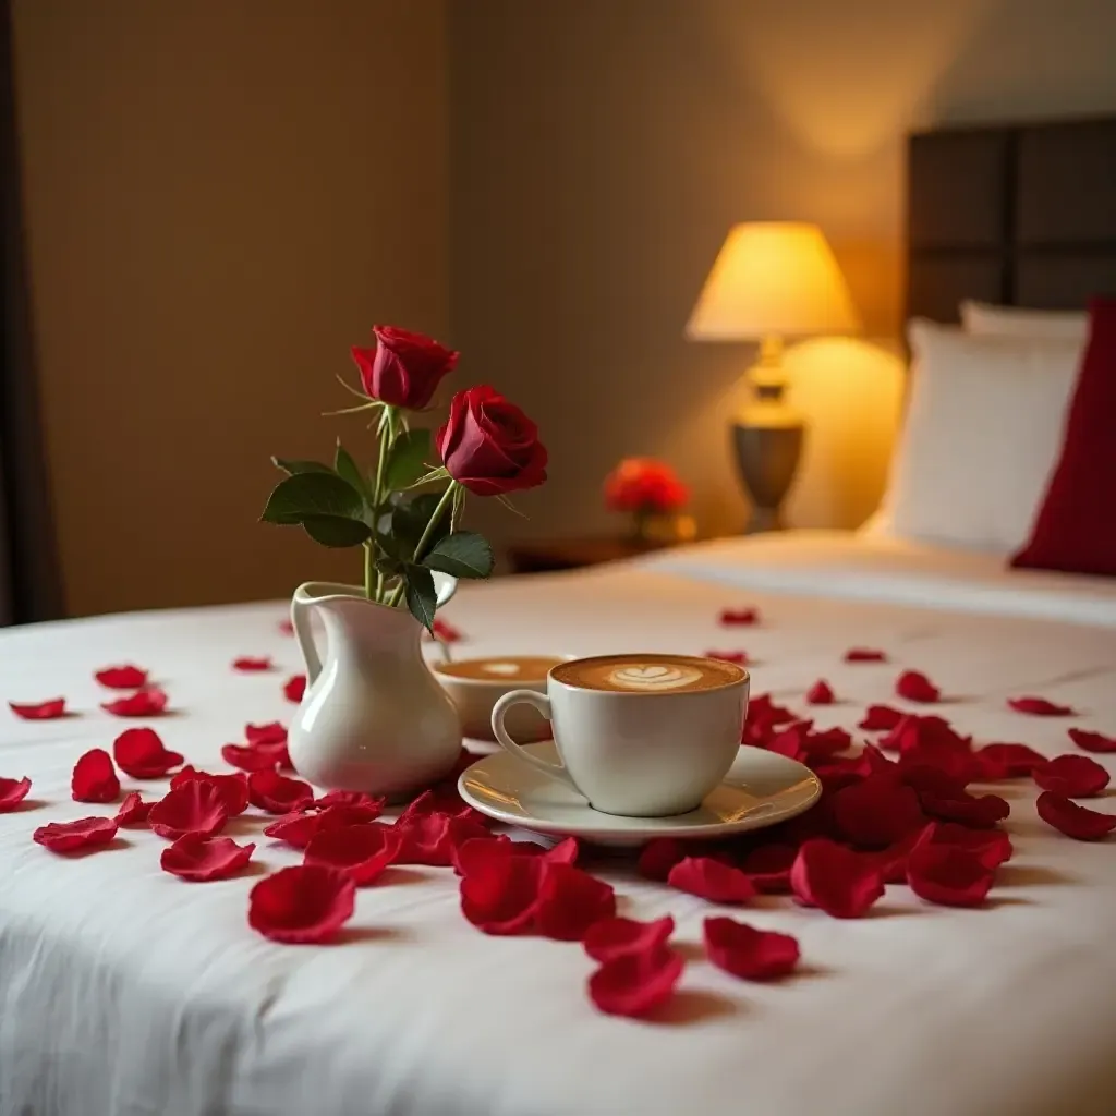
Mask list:
[[[555,762],[552,740],[527,750]],[[490,818],[556,837],[597,845],[642,845],[653,837],[727,837],[785,821],[812,806],[821,783],[809,768],[761,748],[741,748],[724,782],[690,814],[624,818],[602,814],[576,791],[500,751],[466,768],[461,797]]]

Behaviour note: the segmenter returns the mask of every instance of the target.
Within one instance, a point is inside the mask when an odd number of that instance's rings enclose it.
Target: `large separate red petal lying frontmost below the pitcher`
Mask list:
[[[356,907],[356,885],[321,864],[282,868],[248,898],[248,924],[272,942],[320,944],[336,937]]]

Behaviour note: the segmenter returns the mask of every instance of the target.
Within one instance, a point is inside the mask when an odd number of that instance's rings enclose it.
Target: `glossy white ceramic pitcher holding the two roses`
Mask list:
[[[456,580],[435,574],[439,605]],[[420,650],[422,625],[406,608],[368,600],[354,586],[307,581],[291,623],[307,687],[288,732],[291,763],[328,790],[398,797],[449,773],[461,724]],[[325,662],[315,644],[325,633]]]

